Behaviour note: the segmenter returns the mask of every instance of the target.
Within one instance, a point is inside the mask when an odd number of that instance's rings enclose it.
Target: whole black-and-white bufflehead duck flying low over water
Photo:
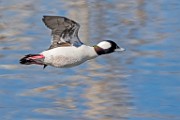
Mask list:
[[[52,30],[52,41],[48,50],[39,54],[28,54],[20,59],[21,64],[48,65],[58,68],[73,67],[99,55],[124,51],[111,40],[95,46],[83,44],[78,37],[80,25],[66,17],[44,16],[43,22]]]

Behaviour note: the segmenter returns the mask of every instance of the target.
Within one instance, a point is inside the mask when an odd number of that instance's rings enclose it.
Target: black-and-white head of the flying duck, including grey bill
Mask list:
[[[119,47],[115,42],[111,40],[104,40],[98,43],[94,46],[94,49],[98,55],[125,51],[124,48]]]

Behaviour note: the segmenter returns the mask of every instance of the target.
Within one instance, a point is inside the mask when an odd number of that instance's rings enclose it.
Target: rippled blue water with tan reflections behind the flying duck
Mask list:
[[[179,0],[1,0],[0,119],[179,120]],[[50,44],[43,15],[81,24],[81,40],[126,52],[57,69],[20,65]]]

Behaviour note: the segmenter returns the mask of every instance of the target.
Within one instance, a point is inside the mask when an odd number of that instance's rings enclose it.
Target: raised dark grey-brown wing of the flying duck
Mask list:
[[[49,49],[72,45],[79,47],[83,44],[78,37],[80,25],[75,21],[61,16],[44,16],[42,20],[52,30]]]

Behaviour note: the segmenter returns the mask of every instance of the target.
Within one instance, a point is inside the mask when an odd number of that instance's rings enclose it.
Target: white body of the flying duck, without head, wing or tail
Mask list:
[[[72,67],[98,56],[93,47],[86,45],[58,47],[41,54],[45,56],[44,63],[54,67]]]

